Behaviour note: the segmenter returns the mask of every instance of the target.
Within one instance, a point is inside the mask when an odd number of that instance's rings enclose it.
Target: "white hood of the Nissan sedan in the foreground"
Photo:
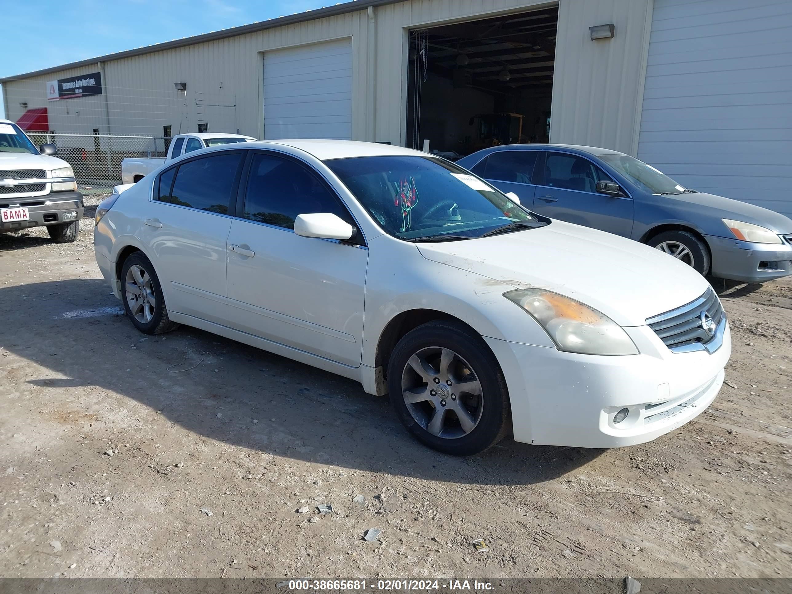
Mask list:
[[[619,326],[644,326],[646,318],[690,303],[709,287],[658,249],[557,220],[489,238],[416,245],[428,260],[577,299]]]

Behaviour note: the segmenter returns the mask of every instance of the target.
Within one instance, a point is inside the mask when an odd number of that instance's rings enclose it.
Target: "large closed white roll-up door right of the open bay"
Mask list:
[[[792,216],[790,31],[790,0],[654,0],[638,158]]]

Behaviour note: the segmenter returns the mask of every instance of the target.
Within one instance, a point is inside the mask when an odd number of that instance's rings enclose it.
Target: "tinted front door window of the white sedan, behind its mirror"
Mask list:
[[[245,196],[246,219],[294,229],[297,215],[314,212],[332,212],[354,224],[337,196],[307,166],[271,154],[253,155]]]

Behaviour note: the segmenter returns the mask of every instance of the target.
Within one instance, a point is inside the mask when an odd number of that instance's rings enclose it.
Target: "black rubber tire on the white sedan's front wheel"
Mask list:
[[[482,411],[478,417],[478,424],[463,436],[450,439],[433,435],[413,417],[413,413],[410,412],[405,402],[402,393],[402,375],[410,373],[410,371],[405,371],[408,361],[411,356],[421,352],[422,349],[432,348],[451,349],[461,357],[463,360],[461,362],[467,364],[468,371],[473,371],[475,378],[481,384],[482,397],[478,401],[478,406],[482,407]],[[431,386],[427,386],[427,390],[429,387]],[[445,389],[443,383],[438,384],[438,389],[440,387]],[[498,365],[495,356],[482,337],[459,323],[428,322],[410,330],[402,337],[390,355],[388,389],[390,402],[407,430],[421,443],[445,454],[462,456],[479,454],[501,441],[510,427],[508,389],[501,372],[501,366]],[[455,396],[455,394],[453,395]],[[459,404],[462,401],[463,395],[459,394]],[[421,406],[424,405],[431,407],[431,409],[427,409],[429,411],[436,409],[436,406],[430,405],[428,402],[421,402]],[[451,405],[449,402],[448,406],[456,405]],[[432,412],[428,414],[431,415]],[[456,413],[451,415],[450,422],[453,424],[455,419],[459,419]],[[461,428],[461,424],[459,425]]]

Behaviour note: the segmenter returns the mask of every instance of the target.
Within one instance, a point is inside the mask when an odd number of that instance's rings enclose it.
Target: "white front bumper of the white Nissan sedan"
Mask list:
[[[514,439],[528,444],[642,444],[697,417],[718,395],[731,354],[671,352],[648,326],[626,328],[640,355],[592,356],[485,338],[505,375]],[[615,423],[622,409],[629,413]]]

